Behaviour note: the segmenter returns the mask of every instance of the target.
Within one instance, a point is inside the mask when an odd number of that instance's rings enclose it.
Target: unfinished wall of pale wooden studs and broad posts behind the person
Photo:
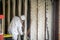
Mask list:
[[[11,2],[10,2],[11,1]],[[3,13],[4,16],[7,15],[8,25],[10,24],[10,18],[13,16],[21,16],[21,13],[25,15],[25,28],[24,28],[24,40],[27,40],[27,9],[28,0],[18,0],[18,5],[16,5],[16,0],[8,0],[8,11],[5,13],[5,0],[3,2]],[[11,4],[12,3],[12,4]],[[52,38],[52,2],[51,0],[30,0],[30,40],[45,40],[46,38],[46,27],[49,31],[49,40]],[[12,6],[11,6],[12,5]],[[23,5],[23,7],[22,7]],[[11,8],[12,7],[12,8]],[[10,9],[11,8],[11,9]],[[16,12],[18,10],[18,12]],[[22,11],[23,10],[23,11]],[[5,15],[6,14],[6,15]],[[12,17],[11,17],[12,16]],[[2,27],[5,27],[5,19],[2,20]]]

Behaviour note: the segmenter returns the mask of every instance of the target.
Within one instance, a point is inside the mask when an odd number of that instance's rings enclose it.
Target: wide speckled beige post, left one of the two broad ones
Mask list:
[[[30,40],[37,39],[37,0],[31,0],[31,27],[30,27]]]

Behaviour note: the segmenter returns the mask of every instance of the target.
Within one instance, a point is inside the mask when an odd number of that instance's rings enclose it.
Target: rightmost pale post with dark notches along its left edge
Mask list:
[[[49,40],[52,40],[52,18],[53,18],[53,8],[52,8],[52,2],[51,0],[46,0],[46,29],[48,30],[49,32]],[[47,31],[46,30],[46,31]],[[48,36],[48,34],[47,34]],[[47,37],[48,38],[48,37]]]

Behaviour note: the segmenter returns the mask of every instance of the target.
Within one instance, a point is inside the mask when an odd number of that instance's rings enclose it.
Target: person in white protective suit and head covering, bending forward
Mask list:
[[[18,39],[18,35],[23,35],[22,31],[22,20],[25,20],[25,16],[14,16],[9,27],[8,27],[8,33],[12,34],[13,40]]]

